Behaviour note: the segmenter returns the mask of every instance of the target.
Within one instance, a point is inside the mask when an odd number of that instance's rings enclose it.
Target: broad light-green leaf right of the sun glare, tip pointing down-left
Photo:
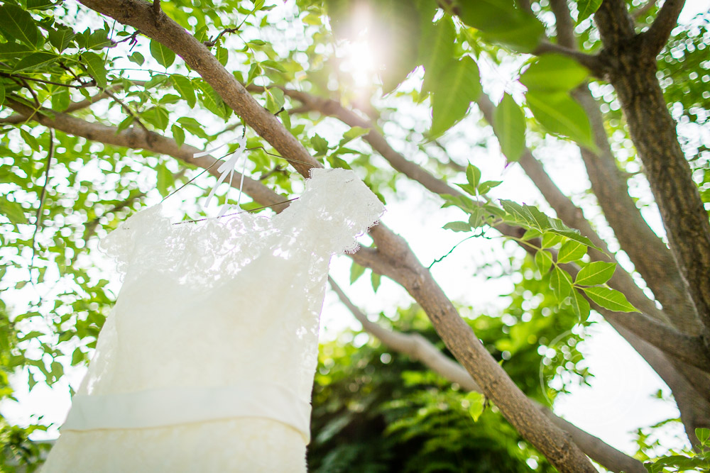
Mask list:
[[[481,94],[479,67],[465,56],[451,61],[442,69],[439,79],[432,84],[432,129],[438,136],[464,118],[471,101]]]

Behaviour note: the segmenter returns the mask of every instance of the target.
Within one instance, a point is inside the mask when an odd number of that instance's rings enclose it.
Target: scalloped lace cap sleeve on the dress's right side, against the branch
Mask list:
[[[377,196],[349,169],[311,169],[300,200],[315,218],[317,240],[332,254],[356,252],[356,238],[385,211]]]

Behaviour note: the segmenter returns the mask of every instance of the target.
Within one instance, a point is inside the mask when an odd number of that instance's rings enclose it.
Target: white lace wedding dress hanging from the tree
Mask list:
[[[55,472],[305,472],[330,257],[383,213],[344,169],[312,169],[273,218],[109,234],[124,284],[58,442]]]

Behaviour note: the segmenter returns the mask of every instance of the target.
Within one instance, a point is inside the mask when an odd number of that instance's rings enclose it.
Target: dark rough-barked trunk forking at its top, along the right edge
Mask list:
[[[669,0],[646,33],[636,35],[623,4],[606,0],[596,14],[608,63],[606,77],[621,102],[631,138],[643,162],[675,264],[704,325],[710,328],[710,223],[685,155],[676,123],[656,78],[656,55],[665,44],[683,1]],[[710,346],[710,345],[709,345]]]

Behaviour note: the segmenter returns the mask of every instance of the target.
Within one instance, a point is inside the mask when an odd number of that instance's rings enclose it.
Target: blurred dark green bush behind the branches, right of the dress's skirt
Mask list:
[[[471,324],[486,345],[505,339],[500,318],[479,316]],[[547,331],[545,324],[533,326],[533,333]],[[417,307],[401,310],[393,328],[416,328],[432,343],[438,340]],[[540,396],[540,355],[528,343],[530,334],[523,336],[525,342],[510,345],[515,355],[506,365],[514,365],[510,372],[520,386],[529,386],[523,389]],[[327,343],[316,374],[308,463],[314,472],[554,471],[486,404],[481,394],[466,394],[376,342],[358,348]],[[535,461],[526,463],[530,458]]]

